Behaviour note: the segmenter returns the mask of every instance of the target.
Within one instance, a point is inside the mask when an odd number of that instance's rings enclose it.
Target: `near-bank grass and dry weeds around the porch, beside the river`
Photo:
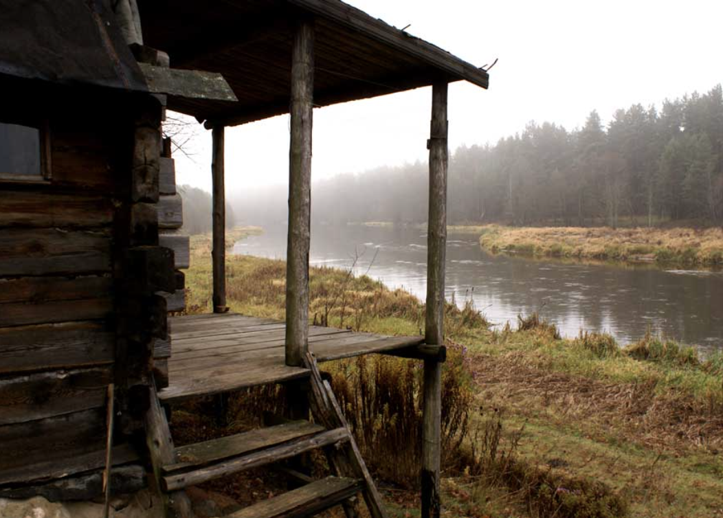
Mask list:
[[[234,229],[228,241],[257,231]],[[190,312],[210,311],[210,271],[210,240],[194,236]],[[229,256],[231,310],[282,319],[285,272],[281,261]],[[424,327],[416,298],[368,277],[313,268],[310,295],[318,323]],[[494,330],[469,304],[448,307],[446,331],[445,516],[723,517],[721,355],[700,361],[652,336],[624,348],[604,334],[560,339],[534,315]],[[325,368],[393,516],[416,517],[419,365],[364,358]],[[237,407],[269,400],[249,393]]]

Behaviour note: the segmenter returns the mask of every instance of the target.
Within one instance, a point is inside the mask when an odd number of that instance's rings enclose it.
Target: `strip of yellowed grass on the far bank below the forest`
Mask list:
[[[721,228],[450,227],[478,233],[493,253],[601,261],[657,262],[685,266],[723,265]]]

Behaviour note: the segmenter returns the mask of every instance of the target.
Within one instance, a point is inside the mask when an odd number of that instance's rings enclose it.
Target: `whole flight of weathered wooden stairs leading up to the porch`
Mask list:
[[[184,489],[190,485],[255,467],[291,459],[313,449],[326,454],[333,474],[300,488],[241,509],[230,518],[296,518],[342,505],[348,518],[358,516],[361,493],[372,518],[387,518],[382,499],[369,475],[359,447],[341,413],[328,381],[322,380],[311,354],[304,362],[310,372],[309,407],[315,422],[287,421],[233,436],[174,447],[171,431],[153,386],[147,413],[147,446],[166,517],[193,518]]]

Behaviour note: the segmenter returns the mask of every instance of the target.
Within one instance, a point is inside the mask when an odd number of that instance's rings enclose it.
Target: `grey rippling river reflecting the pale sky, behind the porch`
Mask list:
[[[320,226],[310,261],[369,274],[390,288],[426,296],[427,235],[414,228]],[[283,259],[286,229],[239,241],[234,253]],[[573,337],[581,329],[638,340],[646,329],[706,350],[723,348],[723,272],[622,267],[492,255],[474,234],[450,233],[447,298],[470,298],[496,325],[534,311]]]

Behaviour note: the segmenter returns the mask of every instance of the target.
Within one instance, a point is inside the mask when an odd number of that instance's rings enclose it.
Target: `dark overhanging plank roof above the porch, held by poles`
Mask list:
[[[168,108],[233,126],[288,113],[294,23],[315,18],[317,106],[488,75],[339,0],[139,0],[145,44],[174,68],[223,74],[237,103],[169,99]]]

